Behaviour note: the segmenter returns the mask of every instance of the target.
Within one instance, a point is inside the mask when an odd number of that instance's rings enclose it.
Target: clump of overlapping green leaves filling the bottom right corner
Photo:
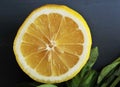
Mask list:
[[[105,66],[98,77],[99,87],[115,87],[120,81],[120,58]]]

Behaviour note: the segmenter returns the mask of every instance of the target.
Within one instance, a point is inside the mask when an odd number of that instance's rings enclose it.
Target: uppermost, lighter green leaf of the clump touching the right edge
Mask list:
[[[120,64],[120,58],[116,59],[111,64],[107,65],[102,69],[97,80],[97,84],[100,84],[106,77],[112,75],[114,69]],[[112,72],[112,73],[111,73]]]

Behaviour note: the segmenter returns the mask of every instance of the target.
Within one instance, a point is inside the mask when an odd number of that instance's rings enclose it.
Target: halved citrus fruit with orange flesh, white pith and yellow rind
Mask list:
[[[45,5],[22,24],[13,50],[22,70],[43,83],[73,78],[89,58],[92,39],[84,18],[64,5]]]

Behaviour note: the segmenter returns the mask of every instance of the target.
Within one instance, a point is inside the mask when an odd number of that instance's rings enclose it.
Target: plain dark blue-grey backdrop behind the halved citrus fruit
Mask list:
[[[31,11],[49,3],[67,5],[86,19],[92,47],[99,47],[96,70],[120,56],[120,0],[0,0],[0,87],[32,81],[15,60],[13,40]]]

